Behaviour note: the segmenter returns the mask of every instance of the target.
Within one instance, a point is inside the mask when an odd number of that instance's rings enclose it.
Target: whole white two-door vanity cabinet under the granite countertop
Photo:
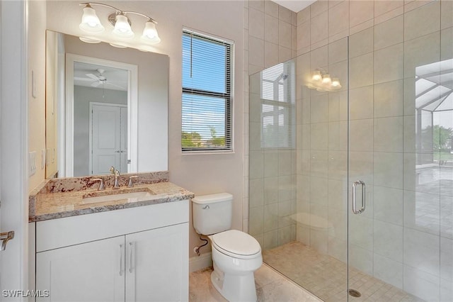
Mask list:
[[[188,204],[37,222],[37,301],[188,301]]]

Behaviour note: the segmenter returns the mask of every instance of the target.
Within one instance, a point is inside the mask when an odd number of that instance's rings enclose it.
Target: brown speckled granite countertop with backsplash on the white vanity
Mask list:
[[[126,184],[127,176],[130,175],[138,176],[137,181],[134,181],[133,188],[127,188]],[[168,172],[130,175],[121,178],[120,189],[112,189],[113,177],[103,176],[105,190],[102,191],[97,189],[99,183],[91,180],[98,177],[73,177],[45,181],[40,188],[35,189],[30,194],[28,220],[35,222],[122,208],[148,206],[156,203],[182,201],[194,197],[192,192],[168,182]],[[121,197],[121,194],[137,192],[148,192],[149,194],[130,198]],[[99,199],[98,197],[110,195],[116,195],[117,198],[114,197],[110,201],[96,200]]]

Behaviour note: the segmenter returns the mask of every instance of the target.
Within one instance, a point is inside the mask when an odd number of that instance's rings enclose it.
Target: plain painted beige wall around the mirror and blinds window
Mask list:
[[[169,56],[168,84],[168,170],[170,180],[193,191],[197,195],[214,194],[222,191],[234,195],[233,228],[243,229],[243,171],[247,170],[243,162],[243,84],[248,78],[243,74],[243,1],[103,1],[121,9],[147,13],[156,21],[162,42],[154,47],[155,52]],[[29,54],[35,58],[30,70],[45,70],[45,22],[47,29],[71,35],[79,34],[81,18],[80,1],[47,2],[47,19],[45,18],[46,2],[30,1],[42,13],[30,14],[36,18],[37,26],[30,26]],[[64,18],[62,18],[64,16]],[[234,152],[228,154],[183,155],[180,150],[180,99],[181,99],[181,36],[183,26],[202,32],[233,40],[234,52]],[[40,52],[42,52],[40,54]],[[44,91],[44,77],[39,77],[38,89]],[[31,90],[30,90],[31,91]],[[30,100],[33,101],[32,98]],[[38,103],[38,102],[37,102]],[[45,144],[44,92],[39,100],[39,110],[30,108],[30,150],[40,150]],[[41,108],[42,107],[42,108]],[[40,113],[42,112],[42,114]],[[42,126],[41,126],[42,124]],[[32,140],[39,140],[34,144]],[[140,138],[139,138],[140,139]],[[146,156],[146,155],[144,155]],[[244,165],[246,168],[244,168]],[[30,190],[44,180],[44,173],[30,178]],[[190,215],[190,219],[191,219]],[[191,220],[190,220],[190,223]],[[200,245],[195,230],[190,229],[189,255],[195,256],[193,247]],[[202,252],[207,252],[206,247]]]

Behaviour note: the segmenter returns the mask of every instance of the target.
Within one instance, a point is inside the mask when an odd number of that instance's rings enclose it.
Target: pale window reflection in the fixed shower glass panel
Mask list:
[[[261,147],[294,148],[294,63],[261,72]]]

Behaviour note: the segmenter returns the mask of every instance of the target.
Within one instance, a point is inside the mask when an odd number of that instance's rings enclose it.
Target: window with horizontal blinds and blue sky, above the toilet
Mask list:
[[[232,43],[183,31],[183,152],[231,151]]]

